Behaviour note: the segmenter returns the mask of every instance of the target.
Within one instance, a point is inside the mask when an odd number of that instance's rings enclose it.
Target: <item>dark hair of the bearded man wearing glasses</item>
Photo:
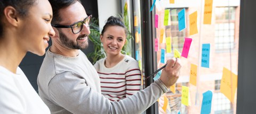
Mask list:
[[[49,0],[50,4],[52,5],[52,24],[58,24],[60,21],[62,21],[59,10],[62,8],[66,8],[72,4],[75,4],[76,2],[80,2],[80,0]]]

